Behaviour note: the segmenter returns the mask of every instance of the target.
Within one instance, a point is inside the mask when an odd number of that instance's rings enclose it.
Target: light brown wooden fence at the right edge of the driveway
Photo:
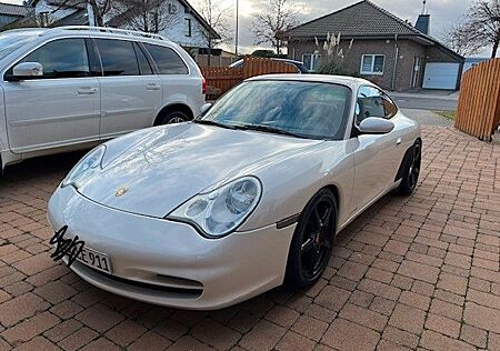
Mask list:
[[[491,59],[463,74],[454,127],[489,141],[499,126],[500,59]]]

